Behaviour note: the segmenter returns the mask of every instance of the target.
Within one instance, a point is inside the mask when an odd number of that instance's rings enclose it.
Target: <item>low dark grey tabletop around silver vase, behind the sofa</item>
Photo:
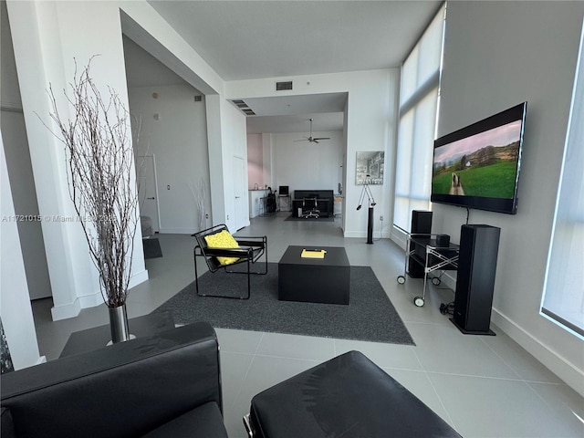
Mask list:
[[[143,317],[128,319],[128,327],[130,334],[141,338],[174,328],[174,318],[172,318],[171,312],[154,312]],[[110,340],[110,324],[76,331],[69,336],[59,358],[101,349]]]

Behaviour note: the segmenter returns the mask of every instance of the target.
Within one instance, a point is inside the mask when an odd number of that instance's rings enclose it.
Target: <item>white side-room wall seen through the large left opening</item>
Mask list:
[[[195,102],[194,96],[201,93],[187,85],[132,88],[128,94],[132,115],[141,118],[140,144],[134,152],[147,151],[156,158],[161,233],[199,231],[189,183],[203,178],[205,212],[211,212],[204,98]]]

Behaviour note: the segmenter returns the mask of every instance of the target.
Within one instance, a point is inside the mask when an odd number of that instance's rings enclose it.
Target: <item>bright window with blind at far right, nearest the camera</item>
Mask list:
[[[541,311],[584,338],[584,23]]]

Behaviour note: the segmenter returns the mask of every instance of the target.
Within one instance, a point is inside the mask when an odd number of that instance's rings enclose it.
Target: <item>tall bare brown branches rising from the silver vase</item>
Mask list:
[[[72,120],[57,110],[49,86],[50,117],[60,130],[68,160],[68,190],[99,271],[101,293],[109,308],[126,302],[138,224],[138,190],[132,180],[130,112],[109,89],[103,99],[87,67],[77,67],[68,99]]]

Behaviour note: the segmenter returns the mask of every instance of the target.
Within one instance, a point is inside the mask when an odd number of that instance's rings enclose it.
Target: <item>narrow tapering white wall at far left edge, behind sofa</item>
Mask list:
[[[16,370],[43,361],[38,352],[33,311],[27,294],[25,265],[18,239],[15,207],[0,136],[0,318],[5,329],[10,355]]]

